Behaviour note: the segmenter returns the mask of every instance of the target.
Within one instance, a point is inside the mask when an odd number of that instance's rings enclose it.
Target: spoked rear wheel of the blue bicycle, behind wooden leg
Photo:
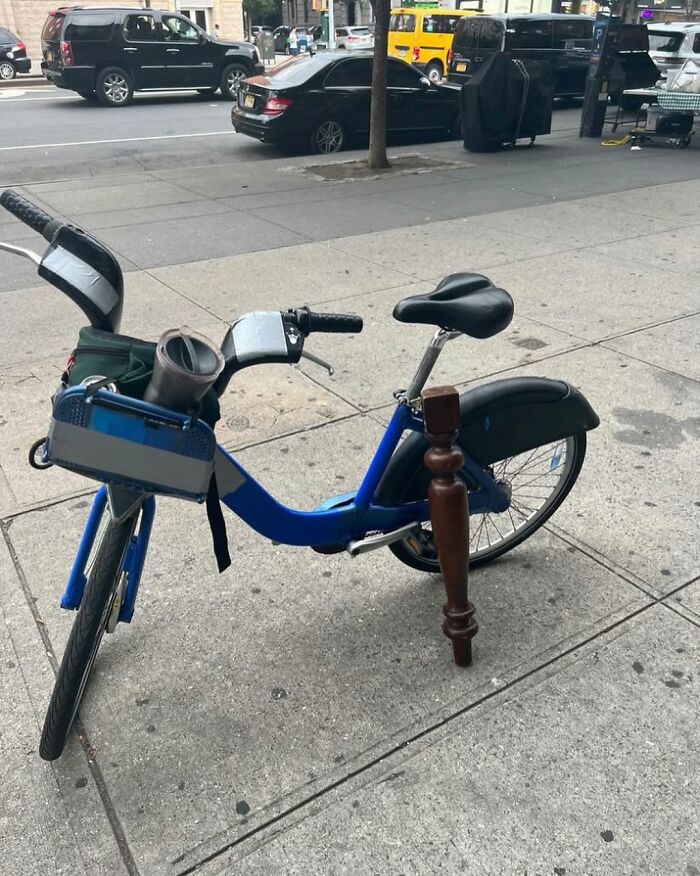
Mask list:
[[[493,479],[510,492],[510,505],[500,514],[470,516],[470,568],[489,563],[522,544],[549,520],[576,483],[585,455],[586,433],[578,432],[489,466]],[[422,479],[426,496],[429,482],[426,470],[417,471],[415,477]],[[406,489],[415,490],[414,484],[414,479],[409,478]],[[430,524],[424,525],[420,536],[394,542],[389,548],[402,563],[414,569],[440,571]]]

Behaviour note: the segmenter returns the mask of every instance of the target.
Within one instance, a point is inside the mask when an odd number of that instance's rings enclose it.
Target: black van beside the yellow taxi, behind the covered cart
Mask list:
[[[448,56],[449,82],[464,82],[495,52],[540,61],[556,77],[556,97],[586,89],[594,18],[588,15],[479,15],[457,23]]]

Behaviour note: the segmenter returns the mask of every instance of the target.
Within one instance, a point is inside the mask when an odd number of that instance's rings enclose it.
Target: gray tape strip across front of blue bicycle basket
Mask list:
[[[49,432],[49,458],[58,465],[72,464],[200,496],[207,493],[214,471],[213,459],[193,459],[58,420]]]

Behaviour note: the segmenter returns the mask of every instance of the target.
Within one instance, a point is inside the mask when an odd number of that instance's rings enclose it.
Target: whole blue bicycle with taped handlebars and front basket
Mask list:
[[[93,336],[145,344],[117,334],[123,278],[103,244],[14,192],[4,192],[0,204],[49,242],[43,256],[12,244],[0,243],[0,249],[33,260],[40,276],[81,307]],[[304,349],[306,338],[314,332],[359,332],[360,317],[314,313],[305,307],[249,313],[230,327],[220,349],[194,333],[169,332],[153,354],[154,376],[140,398],[117,391],[102,375],[73,386],[64,381],[54,397],[48,436],[37,442],[43,462],[35,464],[63,465],[102,485],[61,599],[62,607],[77,614],[44,722],[43,758],[55,759],[63,751],[104,633],[131,620],[156,494],[206,502],[220,568],[226,565],[217,523],[221,502],[276,542],[351,556],[388,546],[403,563],[439,572],[426,499],[430,476],[423,464],[428,444],[421,390],[448,341],[461,335],[492,337],[510,323],[513,302],[486,277],[454,274],[430,294],[400,301],[393,315],[401,322],[435,326],[436,331],[408,389],[395,393],[396,409],[362,483],[314,511],[277,502],[216,444],[201,404],[190,409],[180,404],[177,410],[173,398],[189,379],[219,397],[237,371],[252,365],[297,363],[306,357],[330,367]],[[161,354],[177,360],[167,362],[172,367],[160,375],[170,379],[167,404],[163,385],[160,395],[153,390]],[[171,379],[180,373],[182,382]],[[599,421],[578,390],[538,377],[479,386],[461,396],[460,408],[461,476],[472,518],[470,565],[477,566],[529,538],[556,511],[581,470],[586,432]]]

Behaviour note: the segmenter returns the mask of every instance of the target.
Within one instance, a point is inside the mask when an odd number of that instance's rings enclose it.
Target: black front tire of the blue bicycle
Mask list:
[[[56,760],[65,747],[107,626],[137,516],[110,521],[97,549],[46,711],[39,744],[44,760]]]

